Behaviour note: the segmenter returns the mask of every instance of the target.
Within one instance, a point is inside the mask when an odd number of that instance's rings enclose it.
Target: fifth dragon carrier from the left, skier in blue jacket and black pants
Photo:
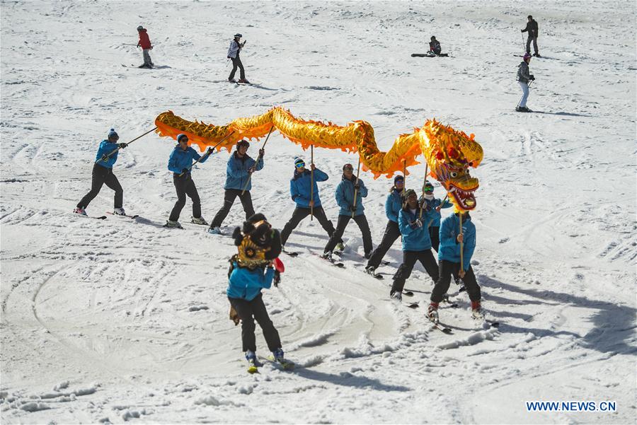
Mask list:
[[[356,191],[356,203],[354,203],[354,192]],[[365,258],[372,256],[372,233],[369,231],[369,223],[365,217],[365,207],[362,205],[362,198],[367,197],[367,187],[360,179],[356,179],[354,175],[354,166],[352,164],[343,165],[343,177],[336,187],[336,203],[340,206],[338,212],[338,222],[336,223],[336,231],[332,234],[325,249],[323,250],[323,258],[330,259],[334,248],[345,248],[338,241],[343,236],[345,227],[348,226],[352,213],[354,221],[360,228],[363,238],[363,248],[365,250]]]

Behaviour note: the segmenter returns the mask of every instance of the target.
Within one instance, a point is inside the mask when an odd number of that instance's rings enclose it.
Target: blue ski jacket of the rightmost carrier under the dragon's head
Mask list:
[[[476,249],[476,226],[471,223],[471,216],[464,214],[462,216],[462,233],[463,233],[463,267],[469,269],[471,264],[471,256],[474,255]],[[440,226],[440,248],[438,248],[438,260],[447,260],[450,262],[460,262],[460,243],[457,237],[460,234],[460,219],[457,214],[452,214],[442,221]]]

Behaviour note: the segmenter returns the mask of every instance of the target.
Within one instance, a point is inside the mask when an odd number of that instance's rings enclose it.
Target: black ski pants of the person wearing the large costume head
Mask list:
[[[256,320],[263,330],[263,337],[268,344],[270,351],[275,351],[281,348],[281,339],[277,328],[274,327],[270,316],[268,316],[268,310],[265,310],[265,304],[263,303],[263,294],[258,294],[252,301],[244,300],[243,298],[228,298],[230,305],[236,310],[236,314],[241,318],[241,344],[243,351],[255,351],[256,352],[256,337],[254,330],[254,320]]]

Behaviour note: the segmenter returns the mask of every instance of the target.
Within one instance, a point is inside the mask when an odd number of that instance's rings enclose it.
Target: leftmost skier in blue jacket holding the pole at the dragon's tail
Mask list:
[[[113,174],[113,165],[115,165],[115,161],[117,161],[117,148],[124,149],[128,146],[128,144],[125,143],[118,144],[117,140],[119,139],[120,136],[117,136],[115,129],[110,129],[107,140],[103,140],[101,142],[95,163],[93,164],[91,192],[84,195],[73,210],[74,213],[86,216],[86,207],[98,195],[102,189],[102,185],[106,185],[110,189],[115,190],[115,209],[113,210],[113,214],[118,214],[120,216],[126,215],[122,208],[124,190],[122,190],[122,185],[120,185],[117,177]],[[108,155],[110,155],[110,157]]]

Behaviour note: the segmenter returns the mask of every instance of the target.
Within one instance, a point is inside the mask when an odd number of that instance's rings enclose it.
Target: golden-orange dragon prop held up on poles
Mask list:
[[[156,117],[155,125],[160,136],[176,139],[178,134],[186,134],[201,151],[234,132],[217,148],[230,151],[240,139],[258,139],[274,127],[282,136],[300,144],[303,149],[314,145],[357,152],[363,170],[374,173],[374,178],[382,174],[391,177],[397,171],[406,170],[418,164],[416,157],[422,154],[429,165],[427,174],[449,192],[449,199],[456,208],[461,211],[476,208],[474,192],[478,189],[478,179],[469,175],[469,167],[480,165],[482,146],[474,140],[474,134],[467,136],[436,120],[427,120],[423,127],[415,128],[411,134],[401,134],[386,152],[379,151],[374,139],[374,128],[369,122],[357,120],[340,127],[331,122],[302,120],[282,107],[272,107],[263,115],[237,118],[222,126],[187,121],[168,111]]]

